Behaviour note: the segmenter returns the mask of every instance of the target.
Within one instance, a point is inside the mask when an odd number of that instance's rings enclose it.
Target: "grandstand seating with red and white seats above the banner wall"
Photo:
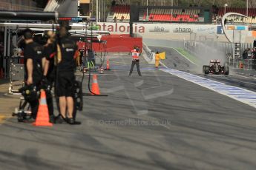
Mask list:
[[[224,7],[217,10],[215,21],[219,24],[222,16],[224,15]],[[226,7],[226,13],[241,13],[246,15],[246,8]],[[228,24],[256,24],[256,10],[249,8],[249,17],[244,18],[241,16],[229,16]],[[173,9],[163,9],[161,7],[148,8],[147,11],[140,11],[140,21],[170,21],[170,22],[198,22],[203,20],[203,12],[200,8],[194,7],[174,7]],[[201,19],[200,19],[201,18]],[[123,21],[128,22],[130,19],[130,6],[118,5],[112,7],[111,13],[107,21]]]

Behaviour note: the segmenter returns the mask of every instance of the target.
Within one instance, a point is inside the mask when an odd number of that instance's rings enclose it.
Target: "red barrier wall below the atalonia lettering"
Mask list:
[[[129,35],[104,35],[102,41],[106,44],[93,43],[93,50],[96,52],[131,52],[134,46],[140,47],[142,52],[142,38],[131,38]],[[79,43],[79,47],[84,47],[85,43]]]

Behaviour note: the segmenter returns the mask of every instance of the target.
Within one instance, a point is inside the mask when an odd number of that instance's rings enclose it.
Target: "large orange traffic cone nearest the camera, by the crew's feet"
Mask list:
[[[44,90],[41,92],[39,110],[37,112],[36,122],[33,123],[33,126],[53,126],[53,123],[50,123],[46,94]]]

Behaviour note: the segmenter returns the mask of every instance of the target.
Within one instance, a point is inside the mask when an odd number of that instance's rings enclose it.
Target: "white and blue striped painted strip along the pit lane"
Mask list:
[[[175,75],[179,78],[183,78],[186,81],[190,81],[194,84],[211,89],[214,92],[226,95],[229,98],[233,98],[236,101],[246,103],[249,106],[256,108],[256,92],[252,92],[248,89],[242,89],[237,86],[230,86],[217,81],[212,81],[207,78],[202,78],[198,75],[192,75],[188,72],[182,72],[177,69],[160,69],[163,72],[168,72],[171,75]]]

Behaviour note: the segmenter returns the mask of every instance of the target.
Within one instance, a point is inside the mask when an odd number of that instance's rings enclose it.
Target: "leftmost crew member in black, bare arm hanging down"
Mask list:
[[[36,86],[39,89],[42,81],[42,46],[33,41],[33,32],[24,30],[24,81],[28,86]],[[39,100],[28,101],[31,106],[31,116],[36,119],[39,108]]]

